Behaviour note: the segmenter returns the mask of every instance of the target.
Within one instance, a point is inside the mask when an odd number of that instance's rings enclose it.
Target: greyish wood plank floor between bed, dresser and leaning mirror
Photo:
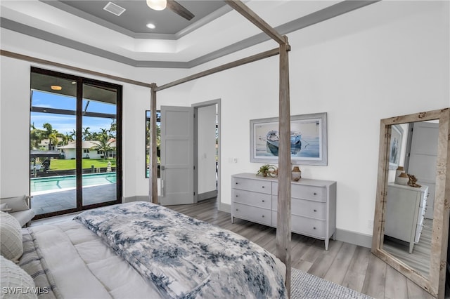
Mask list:
[[[236,232],[271,253],[276,253],[274,228],[236,218],[232,224],[229,213],[217,210],[216,199],[169,208]],[[375,257],[370,248],[330,240],[326,251],[324,241],[293,234],[291,258],[292,267],[296,269],[373,298],[432,298],[429,293]]]

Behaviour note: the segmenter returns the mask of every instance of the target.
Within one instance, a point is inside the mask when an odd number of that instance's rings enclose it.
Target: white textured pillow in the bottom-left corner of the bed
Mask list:
[[[30,274],[3,256],[0,262],[1,298],[37,298]]]

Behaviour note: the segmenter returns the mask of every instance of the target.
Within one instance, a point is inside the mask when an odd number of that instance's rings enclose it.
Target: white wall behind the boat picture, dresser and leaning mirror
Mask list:
[[[328,113],[328,166],[301,166],[302,177],[336,180],[338,229],[372,234],[380,119],[450,107],[449,2],[380,1],[288,37],[291,114]],[[231,175],[261,165],[250,163],[250,119],[278,116],[278,58],[193,83],[191,98],[219,97],[221,202],[230,204]]]

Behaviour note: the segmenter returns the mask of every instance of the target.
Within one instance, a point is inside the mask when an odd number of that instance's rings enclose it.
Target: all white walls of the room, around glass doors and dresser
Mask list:
[[[29,36],[4,29],[1,34],[8,51],[158,85],[277,46],[269,41],[188,71],[133,69],[44,41],[32,41],[30,48]],[[336,180],[338,229],[372,234],[380,119],[450,107],[449,2],[380,1],[288,37],[291,114],[328,113],[328,166],[301,166],[302,177]],[[27,190],[29,68],[28,62],[1,57],[2,197]],[[250,163],[250,119],[278,115],[278,57],[161,91],[158,107],[217,98],[221,202],[230,204],[231,175],[256,173],[261,165]],[[146,88],[124,84],[126,197],[148,191],[142,166],[148,99]]]

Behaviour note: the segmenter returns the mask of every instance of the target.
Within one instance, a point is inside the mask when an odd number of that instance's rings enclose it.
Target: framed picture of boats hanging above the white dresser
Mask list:
[[[250,162],[278,164],[278,117],[250,119]],[[290,117],[291,163],[328,165],[327,114]]]

